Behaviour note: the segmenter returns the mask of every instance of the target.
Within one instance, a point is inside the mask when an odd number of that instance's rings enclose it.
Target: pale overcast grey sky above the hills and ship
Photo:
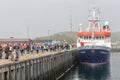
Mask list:
[[[109,21],[112,32],[120,31],[119,0],[0,0],[0,38],[36,38],[70,31],[71,19],[72,31],[78,31],[80,23],[86,28],[90,3],[101,10],[101,26]]]

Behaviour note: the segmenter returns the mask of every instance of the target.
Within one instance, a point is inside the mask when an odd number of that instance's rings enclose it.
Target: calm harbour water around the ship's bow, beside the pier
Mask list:
[[[120,53],[111,53],[107,65],[95,68],[77,65],[62,80],[120,80]]]

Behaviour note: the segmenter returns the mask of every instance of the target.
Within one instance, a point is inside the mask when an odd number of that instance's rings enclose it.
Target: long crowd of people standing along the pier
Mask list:
[[[56,50],[69,50],[74,45],[69,44],[56,44],[56,45],[45,45],[44,43],[39,44],[26,44],[26,43],[6,43],[0,44],[0,59],[5,54],[5,59],[9,59],[10,56],[14,56],[15,60],[18,60],[24,54],[44,53],[44,52],[55,52]]]

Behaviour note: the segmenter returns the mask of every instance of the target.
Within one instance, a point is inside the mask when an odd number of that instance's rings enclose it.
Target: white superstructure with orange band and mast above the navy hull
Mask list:
[[[106,21],[104,26],[101,27],[99,24],[99,9],[93,7],[89,11],[89,26],[86,31],[83,31],[82,24],[80,24],[77,47],[95,45],[111,48],[109,22]]]

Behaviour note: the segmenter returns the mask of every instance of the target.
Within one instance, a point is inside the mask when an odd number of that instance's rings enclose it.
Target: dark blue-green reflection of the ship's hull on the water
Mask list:
[[[109,64],[97,67],[90,67],[87,65],[78,66],[79,77],[84,80],[109,80]]]

